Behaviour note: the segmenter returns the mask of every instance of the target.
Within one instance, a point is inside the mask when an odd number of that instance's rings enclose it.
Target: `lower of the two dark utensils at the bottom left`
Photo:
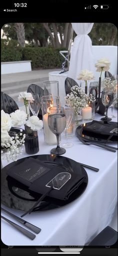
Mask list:
[[[5,218],[2,215],[1,215],[1,218],[4,219],[6,222],[8,222],[13,227],[15,227],[17,230],[19,230],[19,232],[21,232],[22,234],[26,235],[31,240],[33,240],[35,238],[35,235],[33,233],[29,232],[28,230],[26,230],[25,228],[20,227],[19,225],[17,225],[16,223],[12,222],[11,220]]]

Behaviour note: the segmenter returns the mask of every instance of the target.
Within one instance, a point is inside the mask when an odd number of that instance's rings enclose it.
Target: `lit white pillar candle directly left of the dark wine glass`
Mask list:
[[[48,114],[43,115],[43,129],[45,143],[50,145],[56,144],[56,136],[51,132],[48,126]]]

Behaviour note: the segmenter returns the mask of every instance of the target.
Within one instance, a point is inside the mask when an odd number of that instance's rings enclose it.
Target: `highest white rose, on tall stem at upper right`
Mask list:
[[[108,59],[100,59],[95,64],[95,67],[97,72],[100,72],[101,68],[102,68],[102,71],[108,71],[110,68],[110,62]]]

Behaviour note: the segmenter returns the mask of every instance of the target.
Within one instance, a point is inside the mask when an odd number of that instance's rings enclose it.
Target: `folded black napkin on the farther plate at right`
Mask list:
[[[117,127],[117,122],[108,122],[104,123],[103,121],[93,120],[92,122],[86,123],[83,126],[82,134],[96,137],[96,138],[104,138],[107,139],[109,135],[111,135],[111,131]],[[112,140],[116,140],[117,134],[113,133]]]

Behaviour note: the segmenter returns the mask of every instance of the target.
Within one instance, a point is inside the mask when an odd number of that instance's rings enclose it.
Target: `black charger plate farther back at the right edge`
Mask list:
[[[102,121],[101,121],[102,122]],[[90,122],[86,122],[85,125],[89,125]],[[76,137],[79,139],[79,137],[81,137],[84,141],[90,141],[90,142],[99,142],[99,143],[105,143],[107,141],[107,139],[104,139],[103,136],[101,137],[100,135],[86,135],[83,133],[83,127],[84,127],[84,123],[80,124],[77,128],[76,128]],[[110,134],[109,134],[110,135]],[[112,137],[109,141],[107,141],[107,143],[116,143],[117,142],[117,136],[116,137]]]

